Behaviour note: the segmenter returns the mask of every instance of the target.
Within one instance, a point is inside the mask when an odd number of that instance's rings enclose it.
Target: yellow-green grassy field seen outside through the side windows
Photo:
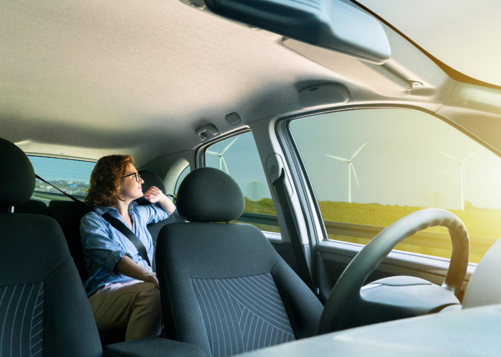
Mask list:
[[[320,205],[325,221],[379,227],[387,227],[400,218],[423,209],[423,207],[383,206],[374,203],[362,204],[333,201],[320,201],[318,204]],[[245,198],[245,211],[276,215],[272,200],[266,198],[257,202],[252,202]],[[449,211],[458,216],[468,229],[470,235],[469,261],[479,263],[490,246],[501,237],[501,210],[477,208],[467,203],[466,210],[464,211],[453,209]],[[447,230],[443,227],[431,227],[425,231],[447,234]],[[331,233],[328,235],[330,239],[351,243],[367,244],[370,241],[369,238],[358,236]],[[446,258],[450,258],[451,254],[450,241],[447,240],[447,237],[445,240],[433,240],[413,236],[399,244],[396,249]]]

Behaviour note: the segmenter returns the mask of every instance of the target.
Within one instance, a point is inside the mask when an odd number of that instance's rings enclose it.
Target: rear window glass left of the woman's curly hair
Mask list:
[[[35,174],[52,183],[67,194],[83,200],[89,188],[90,173],[95,162],[60,159],[44,156],[28,156]],[[64,197],[57,189],[36,179],[34,199],[50,200],[57,196]]]

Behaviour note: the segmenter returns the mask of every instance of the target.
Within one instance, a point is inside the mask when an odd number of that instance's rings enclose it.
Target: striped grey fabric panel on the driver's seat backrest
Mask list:
[[[229,279],[193,279],[214,357],[295,340],[270,273]]]

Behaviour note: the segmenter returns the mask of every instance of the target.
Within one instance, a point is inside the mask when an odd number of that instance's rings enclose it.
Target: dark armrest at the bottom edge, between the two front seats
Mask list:
[[[161,337],[114,343],[104,348],[105,357],[210,357],[200,348],[188,343]]]

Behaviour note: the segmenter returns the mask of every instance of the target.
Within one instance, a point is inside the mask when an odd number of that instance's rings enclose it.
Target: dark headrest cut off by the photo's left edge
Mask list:
[[[27,202],[35,191],[35,170],[26,154],[12,142],[0,138],[0,165],[4,175],[0,185],[0,206]]]

